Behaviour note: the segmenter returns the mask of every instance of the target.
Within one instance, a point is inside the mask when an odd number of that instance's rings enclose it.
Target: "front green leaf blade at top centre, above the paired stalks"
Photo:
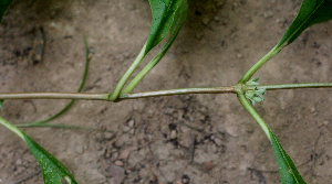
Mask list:
[[[169,32],[175,20],[175,14],[187,0],[148,0],[152,9],[152,25],[146,41],[145,54],[155,47]],[[181,24],[180,24],[181,25]],[[173,26],[178,28],[180,26]]]

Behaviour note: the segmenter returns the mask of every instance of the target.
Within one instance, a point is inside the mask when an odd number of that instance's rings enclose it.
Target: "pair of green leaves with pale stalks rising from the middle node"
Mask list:
[[[108,95],[108,100],[116,101],[124,85],[128,78],[133,75],[137,66],[141,64],[145,55],[155,47],[170,31],[170,35],[166,44],[163,46],[162,52],[158,53],[154,59],[143,69],[132,84],[125,89],[125,91],[132,91],[132,89],[139,83],[139,80],[153,68],[165,55],[166,51],[172,45],[177,33],[179,32],[188,10],[188,0],[149,0],[153,21],[151,31],[139,54],[126,71],[126,73],[118,80],[113,93]]]

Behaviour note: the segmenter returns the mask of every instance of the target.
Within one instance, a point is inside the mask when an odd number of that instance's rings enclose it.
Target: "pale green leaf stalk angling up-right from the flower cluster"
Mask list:
[[[277,55],[281,51],[280,47],[274,46],[267,55],[264,55],[261,59],[259,59],[251,68],[242,76],[242,78],[238,82],[238,84],[246,84],[252,75],[270,58]]]

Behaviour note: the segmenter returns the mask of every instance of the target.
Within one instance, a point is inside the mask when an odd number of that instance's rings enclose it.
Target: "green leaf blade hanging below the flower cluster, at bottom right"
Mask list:
[[[274,156],[277,159],[279,174],[281,176],[282,184],[305,184],[301,175],[299,174],[293,161],[290,156],[284,152],[282,147],[280,145],[276,136],[270,131],[271,143],[274,152]]]

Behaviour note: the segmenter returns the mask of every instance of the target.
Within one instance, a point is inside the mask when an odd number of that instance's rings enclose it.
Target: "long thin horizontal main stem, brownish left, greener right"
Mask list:
[[[305,84],[283,84],[283,85],[261,85],[261,86],[242,86],[242,90],[252,90],[255,88],[267,90],[276,89],[294,89],[294,88],[328,88],[332,83],[305,83]],[[181,88],[145,91],[135,94],[121,94],[120,100],[160,97],[172,95],[188,94],[236,94],[235,86],[227,87],[203,87],[203,88]],[[0,93],[0,99],[85,99],[85,100],[108,100],[108,94],[85,94],[85,93]]]

